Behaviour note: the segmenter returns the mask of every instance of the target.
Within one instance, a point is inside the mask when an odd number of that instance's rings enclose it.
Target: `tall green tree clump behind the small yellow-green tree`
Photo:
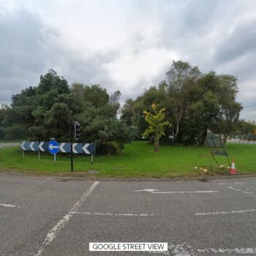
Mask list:
[[[233,75],[203,74],[198,67],[185,61],[173,61],[165,80],[152,86],[137,99],[127,99],[122,108],[121,119],[133,125],[141,138],[147,124],[141,115],[150,111],[153,103],[165,108],[165,118],[172,124],[165,129],[160,140],[165,144],[192,145],[203,143],[206,129],[227,135],[236,131],[242,109],[236,102],[237,78]]]

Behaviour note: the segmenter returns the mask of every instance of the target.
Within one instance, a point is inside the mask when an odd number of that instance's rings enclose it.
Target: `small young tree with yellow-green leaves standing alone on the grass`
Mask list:
[[[159,140],[162,135],[165,135],[165,127],[170,127],[171,124],[165,119],[165,108],[161,108],[157,111],[157,106],[152,104],[153,113],[146,110],[143,111],[145,115],[145,121],[148,123],[148,129],[143,133],[144,136],[148,137],[153,135],[154,138],[154,151],[159,150]]]

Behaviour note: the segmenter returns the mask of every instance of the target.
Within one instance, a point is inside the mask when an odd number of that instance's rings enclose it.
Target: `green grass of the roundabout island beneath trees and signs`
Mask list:
[[[255,156],[256,145],[227,144],[230,159],[236,159],[239,173],[256,173]],[[97,177],[116,178],[167,178],[175,176],[200,176],[201,171],[195,170],[197,166],[206,167],[211,175],[227,174],[226,167],[219,168],[214,163],[208,148],[187,146],[160,146],[159,152],[153,151],[153,146],[146,142],[135,141],[125,146],[124,151],[118,156],[94,157],[91,165],[90,157],[76,157],[74,169],[77,173],[86,173],[87,170],[98,170]],[[218,157],[219,164],[227,166],[225,157]],[[57,162],[53,156],[41,154],[38,162],[37,153],[25,153],[19,147],[0,148],[0,169],[20,170],[26,173],[39,174],[64,174],[70,172],[69,157],[57,155]],[[88,173],[87,173],[88,174]]]

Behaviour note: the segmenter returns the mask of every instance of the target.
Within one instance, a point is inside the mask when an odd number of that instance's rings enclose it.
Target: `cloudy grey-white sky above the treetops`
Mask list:
[[[241,118],[256,120],[254,0],[0,0],[0,104],[49,69],[124,102],[173,60],[235,75]]]

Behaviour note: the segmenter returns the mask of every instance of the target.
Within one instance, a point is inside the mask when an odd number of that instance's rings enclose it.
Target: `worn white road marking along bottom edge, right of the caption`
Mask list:
[[[168,252],[149,252],[149,253],[157,253],[162,255],[173,255],[173,256],[197,256],[198,253],[218,253],[225,255],[230,254],[249,254],[253,255],[256,253],[256,248],[203,248],[203,249],[195,249],[191,244],[171,244],[168,246]]]

